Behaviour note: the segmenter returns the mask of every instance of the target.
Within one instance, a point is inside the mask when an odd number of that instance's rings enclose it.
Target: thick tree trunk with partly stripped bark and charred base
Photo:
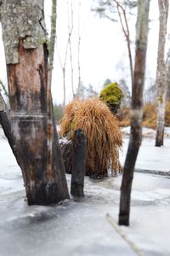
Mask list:
[[[42,0],[8,0],[1,5],[11,126],[29,205],[49,205],[69,197],[54,119],[48,117],[51,92],[48,96],[43,19]]]

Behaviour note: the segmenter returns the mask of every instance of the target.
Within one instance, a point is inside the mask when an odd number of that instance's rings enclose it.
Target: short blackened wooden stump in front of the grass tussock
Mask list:
[[[87,139],[82,130],[75,131],[73,140],[73,164],[71,172],[71,195],[84,196],[84,176]]]

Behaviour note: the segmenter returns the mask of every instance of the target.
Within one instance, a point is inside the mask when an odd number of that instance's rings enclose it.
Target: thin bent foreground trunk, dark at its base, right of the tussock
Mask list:
[[[150,0],[139,0],[138,18],[136,25],[134,79],[131,103],[131,133],[122,175],[121,201],[119,209],[120,225],[129,225],[133,171],[139,153],[139,147],[142,141],[141,122],[143,117],[143,88],[149,9]]]

